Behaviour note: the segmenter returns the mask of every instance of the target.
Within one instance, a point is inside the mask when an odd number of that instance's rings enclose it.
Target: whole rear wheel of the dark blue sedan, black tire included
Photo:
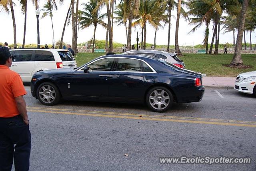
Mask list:
[[[164,112],[172,107],[173,103],[172,92],[162,86],[153,87],[146,95],[146,104],[152,111]]]

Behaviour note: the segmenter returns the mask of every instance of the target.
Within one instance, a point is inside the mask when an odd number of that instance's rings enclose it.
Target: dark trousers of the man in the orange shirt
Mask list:
[[[16,171],[28,171],[30,149],[29,126],[22,117],[0,117],[0,171],[11,171],[13,158]]]

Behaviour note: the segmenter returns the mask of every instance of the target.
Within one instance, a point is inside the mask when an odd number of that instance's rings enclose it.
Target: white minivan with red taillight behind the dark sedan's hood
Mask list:
[[[76,68],[74,56],[62,49],[14,49],[11,70],[20,74],[23,82],[31,82],[32,76],[39,71],[56,68]]]

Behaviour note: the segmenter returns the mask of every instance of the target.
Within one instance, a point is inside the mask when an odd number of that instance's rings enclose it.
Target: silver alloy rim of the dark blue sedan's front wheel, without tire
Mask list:
[[[54,99],[56,98],[56,92],[54,88],[50,85],[43,85],[39,89],[39,98],[44,102],[44,103],[52,103]]]

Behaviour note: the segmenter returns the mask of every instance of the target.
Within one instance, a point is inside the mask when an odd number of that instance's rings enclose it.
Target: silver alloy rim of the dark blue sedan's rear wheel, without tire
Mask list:
[[[170,103],[170,96],[162,89],[156,89],[149,95],[149,103],[154,109],[165,109]]]

